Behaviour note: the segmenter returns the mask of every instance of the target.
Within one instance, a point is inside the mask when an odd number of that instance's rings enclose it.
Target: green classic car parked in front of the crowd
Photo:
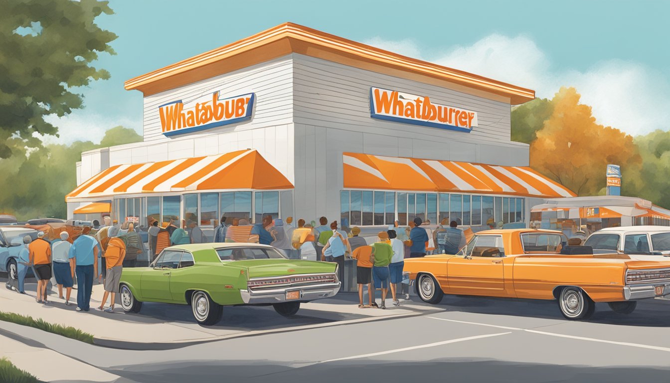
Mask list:
[[[199,243],[165,248],[147,268],[125,268],[121,307],[137,313],[143,302],[190,305],[201,325],[221,319],[222,306],[272,305],[290,317],[300,303],[340,290],[337,265],[289,260],[257,243]]]

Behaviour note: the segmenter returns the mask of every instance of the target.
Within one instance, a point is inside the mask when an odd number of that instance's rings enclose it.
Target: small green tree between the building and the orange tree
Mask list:
[[[534,99],[512,110],[512,141],[530,144],[537,138],[537,131],[553,112],[553,103],[547,99]]]

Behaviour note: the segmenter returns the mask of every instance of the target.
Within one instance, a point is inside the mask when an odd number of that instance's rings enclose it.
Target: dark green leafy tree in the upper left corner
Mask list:
[[[74,88],[109,72],[90,66],[115,54],[117,36],[94,19],[113,14],[107,1],[3,0],[0,12],[0,158],[38,148],[38,135],[58,135],[45,117],[83,107]],[[17,138],[9,140],[9,138]]]

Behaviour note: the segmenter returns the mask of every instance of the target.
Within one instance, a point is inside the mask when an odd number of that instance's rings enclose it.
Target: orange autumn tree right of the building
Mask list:
[[[530,164],[578,195],[598,195],[606,186],[607,164],[628,174],[641,168],[632,137],[596,123],[591,107],[580,104],[574,88],[561,87],[553,111],[530,148]]]

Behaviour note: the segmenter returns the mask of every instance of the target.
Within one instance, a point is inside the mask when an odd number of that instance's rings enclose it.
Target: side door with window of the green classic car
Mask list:
[[[172,300],[170,276],[182,259],[182,250],[163,250],[153,269],[142,274],[142,295],[149,299]]]

